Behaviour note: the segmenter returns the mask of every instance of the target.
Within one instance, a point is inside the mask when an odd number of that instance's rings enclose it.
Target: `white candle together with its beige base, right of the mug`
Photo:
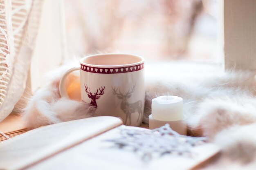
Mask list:
[[[165,124],[181,135],[186,135],[183,121],[183,99],[177,96],[160,96],[152,99],[152,114],[149,115],[149,128],[155,129]]]

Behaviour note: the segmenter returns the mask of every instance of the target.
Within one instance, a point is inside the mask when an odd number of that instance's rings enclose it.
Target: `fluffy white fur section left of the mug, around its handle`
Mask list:
[[[59,81],[65,71],[72,66],[74,64],[67,64],[47,74],[47,85],[36,91],[22,111],[28,127],[38,128],[43,125],[96,115],[90,104],[60,96]]]

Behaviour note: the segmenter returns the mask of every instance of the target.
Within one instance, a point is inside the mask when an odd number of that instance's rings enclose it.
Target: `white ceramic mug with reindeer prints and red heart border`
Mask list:
[[[92,104],[102,116],[123,119],[125,125],[139,126],[144,113],[144,58],[129,54],[90,55],[71,68],[60,82],[60,94],[67,75],[80,70],[81,98]]]

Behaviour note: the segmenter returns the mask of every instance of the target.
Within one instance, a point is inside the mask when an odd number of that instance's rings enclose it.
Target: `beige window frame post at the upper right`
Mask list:
[[[256,69],[256,0],[224,0],[225,69]]]

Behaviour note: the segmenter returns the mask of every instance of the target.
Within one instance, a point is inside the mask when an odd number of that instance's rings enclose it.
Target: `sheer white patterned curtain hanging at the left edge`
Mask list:
[[[43,0],[0,0],[0,121],[22,96]]]

